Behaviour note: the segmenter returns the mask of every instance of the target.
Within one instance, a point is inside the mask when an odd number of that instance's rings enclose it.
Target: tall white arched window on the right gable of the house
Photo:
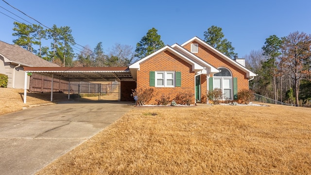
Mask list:
[[[219,73],[213,76],[213,88],[220,89],[225,95],[225,100],[232,100],[232,74],[226,68],[218,68]]]

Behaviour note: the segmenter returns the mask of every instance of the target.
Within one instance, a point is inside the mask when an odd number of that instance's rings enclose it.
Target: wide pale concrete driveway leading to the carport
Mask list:
[[[61,103],[0,116],[0,174],[33,175],[93,137],[131,103]]]

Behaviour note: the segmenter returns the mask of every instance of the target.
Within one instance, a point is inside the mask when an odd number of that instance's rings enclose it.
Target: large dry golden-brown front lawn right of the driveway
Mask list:
[[[307,175],[311,108],[135,108],[37,175]]]

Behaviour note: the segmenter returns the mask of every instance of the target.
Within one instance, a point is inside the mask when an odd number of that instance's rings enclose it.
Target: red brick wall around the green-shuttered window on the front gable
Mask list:
[[[181,87],[160,88],[149,86],[150,71],[180,71]],[[154,96],[149,105],[156,104],[156,99],[162,95],[169,96],[172,100],[178,93],[191,93],[194,98],[194,71],[192,66],[169,51],[156,54],[154,57],[140,63],[137,71],[137,88],[153,88]]]

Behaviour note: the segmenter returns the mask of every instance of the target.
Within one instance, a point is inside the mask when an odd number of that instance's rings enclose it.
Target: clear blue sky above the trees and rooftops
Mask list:
[[[207,28],[216,25],[223,29],[239,57],[261,49],[270,35],[282,37],[295,31],[311,34],[310,0],[5,1],[48,27],[69,26],[75,42],[91,50],[103,42],[105,53],[116,43],[135,50],[141,37],[153,27],[164,44],[173,45],[193,36],[204,39]],[[2,13],[29,23],[3,8],[36,22],[0,0],[0,40],[13,44],[15,20]]]

